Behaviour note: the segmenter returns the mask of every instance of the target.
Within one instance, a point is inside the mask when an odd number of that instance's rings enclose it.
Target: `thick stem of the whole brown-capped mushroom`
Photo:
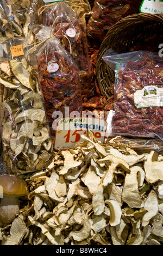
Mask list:
[[[0,203],[0,220],[5,224],[10,224],[15,215],[20,210],[20,202],[17,197],[4,196]]]

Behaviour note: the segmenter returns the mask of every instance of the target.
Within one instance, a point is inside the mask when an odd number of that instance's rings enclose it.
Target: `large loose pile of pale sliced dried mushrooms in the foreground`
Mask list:
[[[162,245],[162,155],[83,138],[53,152],[46,170],[21,175],[30,192],[1,223],[2,245]]]

